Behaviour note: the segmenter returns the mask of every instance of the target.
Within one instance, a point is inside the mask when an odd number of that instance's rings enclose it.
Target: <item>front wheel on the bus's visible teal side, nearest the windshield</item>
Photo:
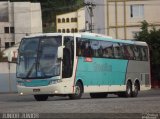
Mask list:
[[[70,99],[80,99],[82,97],[83,87],[80,82],[76,83],[75,94],[68,95]]]

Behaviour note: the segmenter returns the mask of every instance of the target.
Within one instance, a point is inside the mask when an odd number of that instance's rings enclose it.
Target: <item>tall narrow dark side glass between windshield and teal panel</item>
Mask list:
[[[63,49],[63,78],[69,78],[73,73],[73,61],[74,61],[74,37],[65,36],[64,37]]]

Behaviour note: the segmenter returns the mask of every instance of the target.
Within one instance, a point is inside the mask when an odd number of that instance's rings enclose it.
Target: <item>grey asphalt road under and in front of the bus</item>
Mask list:
[[[0,113],[160,113],[160,90],[143,91],[136,98],[91,99],[85,94],[79,100],[50,97],[44,102],[31,95],[0,94]]]

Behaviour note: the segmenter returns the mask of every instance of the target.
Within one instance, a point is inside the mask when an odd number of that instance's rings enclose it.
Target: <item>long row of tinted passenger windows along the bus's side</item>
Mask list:
[[[77,38],[77,55],[127,60],[148,60],[147,47]]]

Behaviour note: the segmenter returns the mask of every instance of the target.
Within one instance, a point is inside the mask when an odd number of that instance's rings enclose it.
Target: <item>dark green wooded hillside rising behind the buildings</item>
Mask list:
[[[42,8],[43,32],[55,32],[57,14],[74,11],[83,6],[84,0],[10,0],[11,2],[40,2]]]

